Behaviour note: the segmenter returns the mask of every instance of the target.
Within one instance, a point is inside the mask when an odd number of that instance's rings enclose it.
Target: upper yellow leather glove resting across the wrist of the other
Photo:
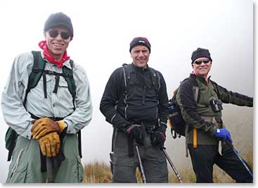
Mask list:
[[[53,121],[50,118],[40,118],[33,123],[32,136],[34,139],[39,139],[49,132],[58,132],[60,134],[65,129],[63,120]]]

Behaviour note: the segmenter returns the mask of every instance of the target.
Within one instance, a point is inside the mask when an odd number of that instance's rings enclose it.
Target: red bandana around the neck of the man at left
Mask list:
[[[47,46],[46,46],[46,41],[45,41],[45,40],[39,42],[39,47],[40,47],[41,49],[43,49],[44,57],[45,57],[49,62],[58,65],[58,68],[63,67],[63,63],[64,63],[65,61],[67,61],[68,59],[70,59],[70,56],[67,56],[67,51],[65,50],[65,53],[63,54],[63,58],[61,58],[60,61],[56,61],[56,59],[54,59],[54,58],[51,56],[51,54],[50,54],[50,52],[49,52],[49,49],[48,49]]]

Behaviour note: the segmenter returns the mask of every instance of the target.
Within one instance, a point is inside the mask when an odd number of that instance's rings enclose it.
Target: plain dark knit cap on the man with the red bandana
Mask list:
[[[44,25],[44,32],[53,27],[65,27],[70,32],[71,37],[73,37],[71,19],[64,13],[52,13],[49,15],[49,18],[46,20]]]

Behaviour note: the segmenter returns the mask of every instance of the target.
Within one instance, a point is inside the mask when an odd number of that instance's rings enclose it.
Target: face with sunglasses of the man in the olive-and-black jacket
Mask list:
[[[197,58],[193,64],[195,74],[207,78],[210,68],[212,68],[212,61],[209,58]]]

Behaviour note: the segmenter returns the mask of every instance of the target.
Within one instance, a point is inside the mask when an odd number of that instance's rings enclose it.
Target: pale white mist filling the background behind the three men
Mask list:
[[[253,8],[250,0],[2,0],[0,96],[15,56],[39,50],[44,22],[51,13],[67,14],[75,32],[67,55],[86,70],[93,103],[91,123],[82,130],[82,163],[109,163],[112,125],[105,122],[99,104],[112,71],[131,63],[131,39],[148,38],[148,65],[165,77],[169,99],[191,73],[191,54],[198,47],[211,53],[212,80],[233,92],[254,96]],[[236,149],[240,153],[252,149],[253,108],[224,104],[223,119]],[[1,109],[0,126],[0,182],[5,182],[10,162],[4,143],[8,126]],[[176,168],[191,168],[184,144],[184,137],[173,139],[167,129],[165,146]]]

